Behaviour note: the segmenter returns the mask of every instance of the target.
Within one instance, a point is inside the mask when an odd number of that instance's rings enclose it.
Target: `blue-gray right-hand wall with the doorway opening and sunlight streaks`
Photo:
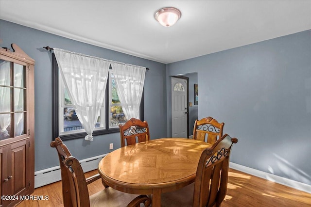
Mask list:
[[[232,162],[311,184],[311,30],[168,64],[167,82],[193,72],[199,119],[239,139]]]

